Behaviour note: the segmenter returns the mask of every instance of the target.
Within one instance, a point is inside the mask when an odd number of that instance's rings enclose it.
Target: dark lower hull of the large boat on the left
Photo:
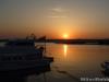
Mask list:
[[[41,68],[49,66],[51,62],[50,57],[43,58],[39,60],[20,60],[20,61],[1,61],[0,71],[13,71],[13,70],[23,70],[32,68]]]

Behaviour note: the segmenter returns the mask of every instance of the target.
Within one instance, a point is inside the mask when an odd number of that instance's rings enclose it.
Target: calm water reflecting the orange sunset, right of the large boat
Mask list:
[[[77,82],[85,77],[101,78],[100,63],[109,60],[109,46],[47,44],[46,51],[55,58],[51,70],[28,75],[23,82]]]

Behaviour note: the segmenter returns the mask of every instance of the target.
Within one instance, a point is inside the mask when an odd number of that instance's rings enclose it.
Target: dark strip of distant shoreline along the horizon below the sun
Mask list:
[[[9,42],[10,39],[0,39]],[[109,45],[109,39],[35,39],[36,43],[56,43],[71,45]]]

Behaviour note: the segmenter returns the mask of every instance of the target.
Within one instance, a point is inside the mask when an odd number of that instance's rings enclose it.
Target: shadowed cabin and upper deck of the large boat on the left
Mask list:
[[[41,59],[43,56],[44,47],[36,48],[34,40],[10,40],[3,47],[0,47],[0,61],[35,60]]]

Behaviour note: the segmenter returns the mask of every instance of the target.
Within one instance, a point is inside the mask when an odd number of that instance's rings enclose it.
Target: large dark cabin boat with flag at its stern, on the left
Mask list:
[[[0,71],[45,68],[53,61],[45,56],[44,46],[35,46],[33,39],[14,39],[0,47]]]

